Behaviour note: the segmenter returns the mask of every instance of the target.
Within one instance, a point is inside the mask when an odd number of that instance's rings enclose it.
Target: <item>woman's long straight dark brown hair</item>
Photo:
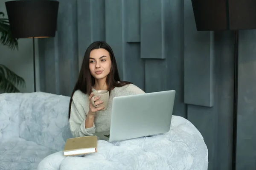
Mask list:
[[[96,41],[89,45],[87,50],[84,54],[84,59],[81,65],[81,69],[79,72],[79,77],[76,82],[76,85],[73,89],[73,92],[70,97],[70,104],[69,104],[69,113],[68,113],[68,119],[70,119],[70,109],[71,109],[71,103],[72,103],[72,97],[76,90],[80,90],[84,94],[90,94],[92,92],[93,85],[95,83],[94,77],[90,74],[89,69],[89,58],[90,58],[90,52],[94,49],[103,48],[108,51],[110,55],[110,59],[112,62],[112,67],[110,70],[110,73],[107,76],[106,84],[108,86],[109,94],[111,93],[111,90],[115,87],[122,87],[124,85],[130,84],[131,82],[122,81],[119,78],[117,65],[116,65],[116,58],[114,56],[114,53],[111,49],[111,47],[104,41]],[[119,82],[119,83],[118,83]],[[85,103],[84,103],[85,104]]]

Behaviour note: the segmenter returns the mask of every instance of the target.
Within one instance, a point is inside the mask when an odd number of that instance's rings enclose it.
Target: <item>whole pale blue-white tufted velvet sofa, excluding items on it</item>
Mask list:
[[[168,133],[98,141],[98,152],[63,156],[70,97],[42,92],[0,94],[0,170],[207,170],[204,139],[173,116]]]

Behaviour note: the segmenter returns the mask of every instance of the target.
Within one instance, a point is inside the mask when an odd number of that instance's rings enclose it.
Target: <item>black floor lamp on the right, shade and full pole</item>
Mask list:
[[[232,169],[236,170],[238,108],[238,31],[256,29],[256,0],[192,0],[197,31],[234,31],[234,99]]]

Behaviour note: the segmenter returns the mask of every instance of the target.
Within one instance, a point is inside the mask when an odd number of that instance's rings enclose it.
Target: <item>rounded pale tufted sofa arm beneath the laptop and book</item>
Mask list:
[[[172,116],[168,133],[126,140],[98,141],[98,152],[47,156],[38,170],[207,170],[208,150],[192,123]]]

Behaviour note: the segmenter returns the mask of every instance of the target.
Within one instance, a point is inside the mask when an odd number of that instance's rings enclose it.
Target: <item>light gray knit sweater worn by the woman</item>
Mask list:
[[[74,137],[90,136],[95,132],[110,130],[112,100],[116,96],[128,96],[145,93],[136,85],[129,84],[123,87],[116,87],[109,96],[108,108],[105,111],[98,111],[94,119],[93,127],[85,128],[85,119],[89,111],[88,95],[80,90],[75,91],[71,103],[70,130]]]

